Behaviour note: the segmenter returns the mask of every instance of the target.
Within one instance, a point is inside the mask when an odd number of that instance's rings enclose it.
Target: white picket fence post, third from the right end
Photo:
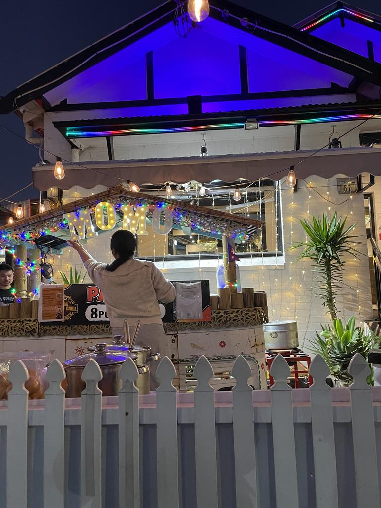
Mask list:
[[[270,369],[272,433],[274,443],[277,508],[299,508],[292,389],[287,383],[290,367],[277,355]]]

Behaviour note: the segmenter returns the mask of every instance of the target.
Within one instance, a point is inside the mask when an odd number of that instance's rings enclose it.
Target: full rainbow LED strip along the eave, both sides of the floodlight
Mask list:
[[[372,115],[364,113],[356,113],[352,115],[337,115],[337,116],[320,116],[317,118],[303,118],[301,120],[260,120],[260,127],[269,125],[295,125],[296,123],[320,123],[330,122],[332,120],[365,120],[366,118],[381,118],[381,115]],[[71,138],[94,138],[102,136],[117,136],[123,134],[167,134],[174,132],[194,132],[204,131],[206,129],[242,129],[244,122],[239,123],[217,123],[215,125],[202,125],[195,127],[179,127],[175,129],[125,129],[121,131],[75,131],[76,128],[71,127],[67,129],[66,135]]]

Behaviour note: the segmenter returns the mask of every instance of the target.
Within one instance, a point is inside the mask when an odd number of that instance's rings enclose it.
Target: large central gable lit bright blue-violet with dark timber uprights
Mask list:
[[[150,51],[154,99],[239,94],[239,46],[246,48],[249,93],[325,88],[332,82],[347,87],[353,79],[210,17],[190,30],[186,38],[179,37],[173,24],[167,23],[48,91],[45,97],[53,106],[63,100],[68,104],[144,101]],[[232,108],[239,109],[239,101],[233,101]],[[167,114],[173,111],[172,105]],[[134,107],[134,116],[145,114],[143,108]],[[163,106],[160,114],[166,114]]]

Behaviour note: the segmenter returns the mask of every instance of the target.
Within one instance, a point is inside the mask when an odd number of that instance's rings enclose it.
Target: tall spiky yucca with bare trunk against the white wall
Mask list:
[[[324,213],[322,218],[313,216],[310,223],[301,220],[308,241],[291,247],[304,247],[297,261],[308,258],[314,263],[313,271],[319,273],[319,278],[314,281],[313,289],[323,299],[323,305],[328,307],[332,321],[337,319],[336,292],[344,284],[342,272],[345,261],[341,256],[347,254],[358,258],[359,254],[353,246],[355,236],[350,235],[356,225],[346,227],[346,219],[337,218],[335,213],[329,220]]]

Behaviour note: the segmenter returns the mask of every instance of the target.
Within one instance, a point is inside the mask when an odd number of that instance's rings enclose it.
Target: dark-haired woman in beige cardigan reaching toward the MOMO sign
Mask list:
[[[79,242],[68,244],[78,251],[90,279],[102,290],[113,335],[123,334],[124,320],[131,327],[140,321],[137,342],[152,347],[162,357],[170,357],[170,340],[164,331],[158,301],[172,302],[175,288],[153,263],[134,259],[135,236],[123,230],[112,235],[110,247],[115,261],[110,265],[94,260]],[[151,375],[151,390],[157,386],[155,376]]]

